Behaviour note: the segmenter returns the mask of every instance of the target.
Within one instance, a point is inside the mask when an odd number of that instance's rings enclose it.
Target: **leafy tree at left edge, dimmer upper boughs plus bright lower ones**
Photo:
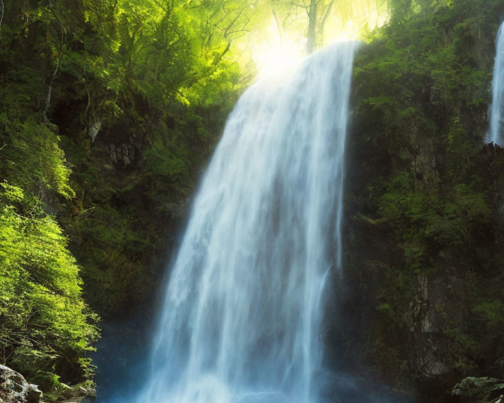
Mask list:
[[[0,114],[0,359],[47,391],[60,376],[92,374],[97,316],[51,215],[74,195],[59,139],[39,118],[17,115]]]

